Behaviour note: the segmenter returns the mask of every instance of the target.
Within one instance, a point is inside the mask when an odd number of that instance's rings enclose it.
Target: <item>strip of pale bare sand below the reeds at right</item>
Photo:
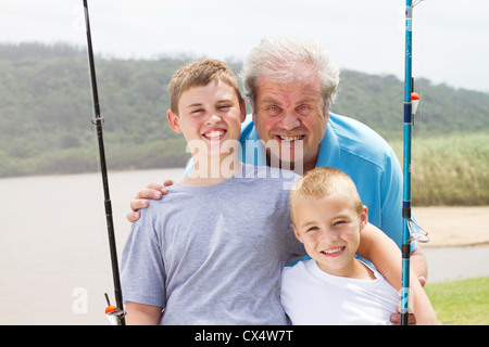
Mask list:
[[[424,247],[489,244],[489,206],[416,207],[413,213],[429,234]]]

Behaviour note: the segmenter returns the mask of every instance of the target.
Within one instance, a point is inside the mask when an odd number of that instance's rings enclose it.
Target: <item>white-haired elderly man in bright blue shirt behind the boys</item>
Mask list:
[[[253,111],[242,125],[241,159],[300,175],[316,166],[347,172],[368,207],[369,222],[401,246],[399,160],[375,131],[330,113],[339,69],[328,52],[314,40],[264,39],[248,55],[241,77]],[[147,198],[165,192],[161,184],[143,188],[130,204],[128,220],[139,218],[137,210],[148,206]],[[426,262],[418,248],[412,266],[424,284]]]

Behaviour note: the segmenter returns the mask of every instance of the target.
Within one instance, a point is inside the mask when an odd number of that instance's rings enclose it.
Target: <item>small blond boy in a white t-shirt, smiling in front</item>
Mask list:
[[[398,291],[354,257],[368,215],[350,177],[330,167],[309,171],[292,188],[290,215],[312,258],[283,272],[281,303],[292,324],[391,324]],[[419,283],[413,292],[416,323],[437,324]]]

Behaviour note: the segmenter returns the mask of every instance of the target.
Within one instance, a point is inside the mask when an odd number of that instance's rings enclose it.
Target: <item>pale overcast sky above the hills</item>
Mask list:
[[[340,67],[404,74],[404,0],[89,0],[93,49],[242,60],[265,36],[316,38]],[[489,1],[414,8],[413,77],[489,92]],[[0,42],[86,46],[82,0],[0,0]]]

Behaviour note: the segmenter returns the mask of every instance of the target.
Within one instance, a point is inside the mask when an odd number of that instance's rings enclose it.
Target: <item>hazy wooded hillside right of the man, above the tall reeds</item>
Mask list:
[[[422,102],[414,134],[473,132],[489,128],[489,93],[432,85],[418,79]],[[404,82],[394,76],[343,70],[335,111],[359,119],[390,138],[402,137]]]

